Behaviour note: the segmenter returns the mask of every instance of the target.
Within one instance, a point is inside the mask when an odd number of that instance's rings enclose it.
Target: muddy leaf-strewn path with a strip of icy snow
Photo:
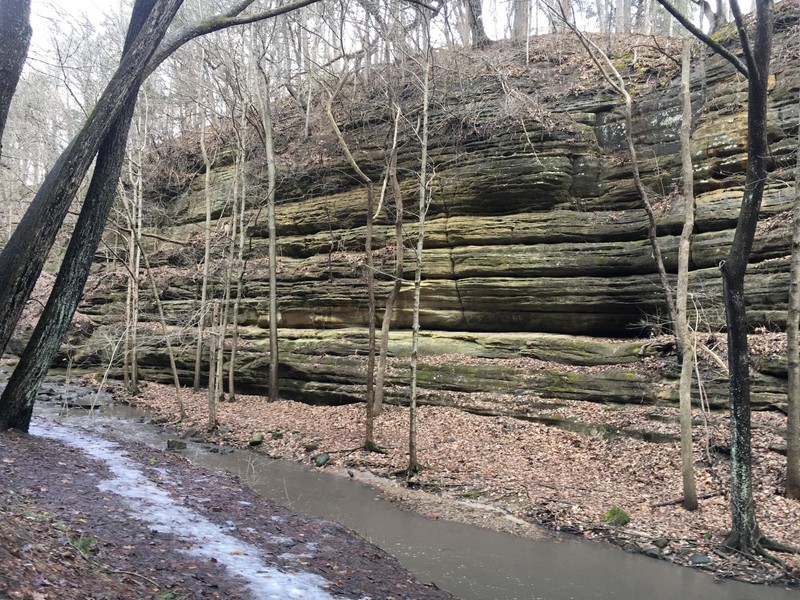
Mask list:
[[[0,434],[0,597],[452,598],[340,525],[175,454],[32,432]]]

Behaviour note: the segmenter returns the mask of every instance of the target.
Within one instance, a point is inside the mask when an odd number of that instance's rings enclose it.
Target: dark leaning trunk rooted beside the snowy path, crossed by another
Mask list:
[[[155,1],[137,1],[125,40],[123,60],[130,52],[131,45],[152,11]],[[50,298],[0,398],[0,429],[13,427],[28,430],[39,386],[58,352],[80,302],[92,259],[116,196],[140,83],[141,76],[134,80],[122,110],[100,145],[86,200]]]

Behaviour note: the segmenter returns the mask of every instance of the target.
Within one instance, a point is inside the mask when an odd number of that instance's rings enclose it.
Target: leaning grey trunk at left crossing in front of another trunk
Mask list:
[[[86,171],[112,123],[138,89],[148,60],[182,3],[183,0],[155,3],[92,115],[47,175],[0,254],[0,354],[22,315]]]

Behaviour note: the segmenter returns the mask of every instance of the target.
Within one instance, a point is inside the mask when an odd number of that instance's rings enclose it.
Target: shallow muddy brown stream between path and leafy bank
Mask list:
[[[129,406],[71,409],[39,402],[36,414],[80,425],[119,441],[166,447],[169,432],[146,424]],[[399,509],[371,487],[298,463],[252,452],[211,452],[189,443],[193,463],[238,475],[259,494],[298,512],[342,523],[396,556],[422,581],[464,600],[798,600],[800,592],[712,577],[665,561],[572,537],[529,540]],[[376,599],[377,600],[377,599]]]

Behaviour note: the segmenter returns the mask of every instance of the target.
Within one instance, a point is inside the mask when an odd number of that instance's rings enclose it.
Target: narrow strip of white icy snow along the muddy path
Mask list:
[[[79,428],[41,421],[31,425],[31,433],[69,444],[102,460],[114,478],[101,482],[98,485],[101,490],[122,496],[131,514],[149,523],[154,530],[191,544],[187,550],[189,554],[216,559],[230,573],[247,581],[255,598],[334,600],[335,597],[323,589],[328,584],[324,578],[314,573],[283,573],[267,565],[256,546],[225,533],[225,528],[176,502],[150,481],[134,461],[121,456],[123,450],[118,444]]]

